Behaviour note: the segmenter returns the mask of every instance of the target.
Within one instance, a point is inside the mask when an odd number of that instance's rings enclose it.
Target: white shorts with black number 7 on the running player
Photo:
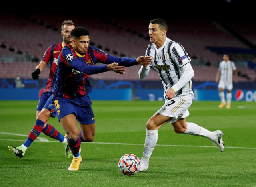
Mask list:
[[[170,123],[176,122],[180,118],[189,116],[188,108],[192,104],[192,94],[187,96],[175,96],[170,100],[166,100],[165,104],[158,110],[159,114],[171,117]]]

